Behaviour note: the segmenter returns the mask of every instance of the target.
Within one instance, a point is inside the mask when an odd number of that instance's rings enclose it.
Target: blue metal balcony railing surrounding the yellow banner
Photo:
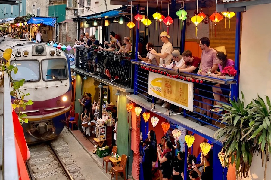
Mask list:
[[[238,91],[238,89],[236,89],[238,87],[236,84],[237,79],[226,80],[201,76],[194,73],[177,73],[173,70],[139,63],[138,61],[133,61],[133,64],[136,64],[134,87],[136,95],[142,96],[154,103],[154,97],[148,95],[148,69],[162,70],[163,72],[171,73],[172,76],[179,74],[182,77],[190,79],[190,81],[193,79],[193,112],[188,112],[183,109],[183,115],[197,120],[200,125],[210,125],[216,128],[223,127],[223,124],[220,125],[221,121],[218,119],[225,112],[218,112],[214,105],[219,105],[222,102],[231,105],[229,99],[233,100],[237,96],[236,93],[234,93]],[[145,69],[141,68],[141,66],[145,67]],[[196,79],[199,80],[198,83]]]

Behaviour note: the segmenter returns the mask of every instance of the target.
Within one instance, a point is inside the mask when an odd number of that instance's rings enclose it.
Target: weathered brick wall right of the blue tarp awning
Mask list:
[[[58,24],[58,42],[63,44],[74,44],[77,39],[77,22],[65,22]]]

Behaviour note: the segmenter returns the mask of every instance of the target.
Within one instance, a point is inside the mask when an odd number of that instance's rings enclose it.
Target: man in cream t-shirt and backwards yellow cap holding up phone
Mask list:
[[[164,43],[161,49],[161,53],[157,53],[151,50],[151,54],[158,56],[160,58],[159,66],[170,65],[171,62],[171,52],[172,52],[172,44],[168,41],[170,35],[167,34],[166,31],[161,32],[160,34],[161,41]]]

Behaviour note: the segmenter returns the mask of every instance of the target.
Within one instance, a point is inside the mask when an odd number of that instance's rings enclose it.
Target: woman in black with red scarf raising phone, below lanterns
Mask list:
[[[157,147],[157,152],[158,152],[158,158],[159,161],[162,165],[161,170],[162,170],[162,175],[163,175],[163,180],[168,180],[170,179],[172,175],[172,167],[171,167],[171,162],[172,162],[172,150],[173,145],[170,140],[167,140],[165,143],[165,149],[162,152],[161,147]]]

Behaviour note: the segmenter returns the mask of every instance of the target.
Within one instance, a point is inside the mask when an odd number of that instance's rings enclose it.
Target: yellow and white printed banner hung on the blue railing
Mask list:
[[[193,111],[193,83],[149,72],[148,94]]]

